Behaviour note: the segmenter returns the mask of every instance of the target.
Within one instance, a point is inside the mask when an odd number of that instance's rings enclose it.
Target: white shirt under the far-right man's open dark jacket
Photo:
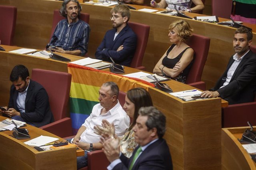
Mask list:
[[[234,63],[230,66],[230,68],[228,69],[227,72],[227,77],[226,77],[226,81],[223,83],[223,85],[220,87],[225,87],[226,85],[229,84],[237,66],[239,65],[239,63],[242,61],[242,59],[244,58],[244,56],[249,52],[250,50],[248,50],[242,57],[240,57],[240,59],[238,59],[237,53],[235,55],[233,55],[233,59],[235,60]],[[223,79],[224,80],[224,79]]]

